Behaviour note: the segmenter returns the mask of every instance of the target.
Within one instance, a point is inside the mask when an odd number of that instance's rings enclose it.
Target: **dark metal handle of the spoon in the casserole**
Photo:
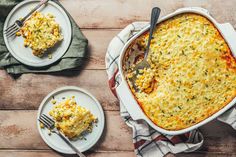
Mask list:
[[[154,29],[156,27],[156,23],[157,23],[157,20],[158,20],[158,18],[160,16],[160,13],[161,13],[161,9],[160,8],[154,7],[152,9],[151,23],[150,23],[150,32],[149,32],[148,44],[147,44],[147,48],[146,48],[146,51],[145,51],[144,59],[147,59],[149,48],[150,48],[150,44],[151,44],[151,40],[152,40],[152,34],[153,34],[153,31],[154,31]]]

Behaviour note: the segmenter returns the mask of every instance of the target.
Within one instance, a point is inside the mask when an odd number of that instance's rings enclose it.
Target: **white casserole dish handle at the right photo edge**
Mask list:
[[[222,36],[226,39],[234,57],[236,57],[236,31],[230,23],[218,25]]]

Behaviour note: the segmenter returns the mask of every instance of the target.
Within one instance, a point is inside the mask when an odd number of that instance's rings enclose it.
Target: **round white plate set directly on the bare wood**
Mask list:
[[[37,119],[43,113],[48,115],[49,111],[53,107],[53,104],[51,103],[53,97],[58,103],[60,101],[63,101],[63,97],[68,98],[72,96],[75,96],[75,100],[78,105],[89,109],[92,114],[94,114],[98,118],[97,126],[94,126],[93,131],[91,133],[85,135],[85,138],[87,140],[71,141],[81,152],[84,152],[97,143],[97,141],[102,135],[105,125],[103,109],[100,103],[96,100],[96,98],[92,96],[92,94],[85,91],[84,89],[74,86],[66,86],[56,89],[55,91],[47,95],[42,101],[38,110]],[[75,154],[75,152],[57,134],[52,133],[51,135],[48,135],[48,130],[46,128],[40,128],[38,120],[37,127],[43,140],[52,149],[64,154]]]

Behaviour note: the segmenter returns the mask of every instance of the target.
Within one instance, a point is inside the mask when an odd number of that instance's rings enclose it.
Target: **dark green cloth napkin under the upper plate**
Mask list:
[[[5,69],[9,74],[23,74],[57,72],[80,67],[86,57],[88,40],[84,37],[78,25],[65,9],[72,23],[72,41],[69,49],[59,61],[46,67],[35,68],[18,62],[9,53],[3,39],[3,25],[11,9],[21,1],[22,0],[0,0],[0,68]],[[52,1],[63,8],[57,0]]]

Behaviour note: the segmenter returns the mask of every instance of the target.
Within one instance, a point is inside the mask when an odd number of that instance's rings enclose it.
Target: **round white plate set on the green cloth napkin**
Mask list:
[[[6,18],[3,30],[12,25],[17,19],[24,17],[39,3],[39,0],[27,0],[16,5]],[[71,43],[72,27],[70,19],[68,18],[65,11],[55,2],[49,1],[45,6],[40,8],[42,13],[51,13],[55,16],[56,22],[60,25],[61,32],[63,34],[63,40],[51,48],[50,53],[52,59],[49,59],[47,55],[43,58],[36,57],[32,54],[30,48],[24,47],[23,37],[7,38],[4,34],[4,41],[9,52],[21,63],[33,66],[43,67],[50,65],[59,60],[67,51]]]

